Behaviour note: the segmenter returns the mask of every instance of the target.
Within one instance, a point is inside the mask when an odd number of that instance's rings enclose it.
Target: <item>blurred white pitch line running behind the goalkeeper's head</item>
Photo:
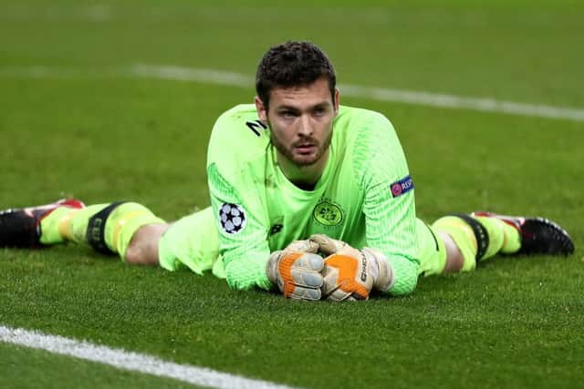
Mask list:
[[[176,67],[164,65],[137,64],[130,68],[106,68],[101,72],[86,71],[86,76],[130,76],[229,87],[254,87],[254,77],[241,73],[198,67]],[[93,72],[93,73],[92,73]],[[20,77],[83,77],[82,69],[54,67],[0,67],[0,76]],[[584,109],[576,107],[555,107],[543,104],[527,104],[515,101],[497,100],[484,97],[461,97],[432,92],[392,89],[386,87],[363,87],[340,84],[344,96],[359,97],[377,101],[405,103],[430,107],[470,109],[483,112],[505,113],[524,117],[555,118],[584,121]]]

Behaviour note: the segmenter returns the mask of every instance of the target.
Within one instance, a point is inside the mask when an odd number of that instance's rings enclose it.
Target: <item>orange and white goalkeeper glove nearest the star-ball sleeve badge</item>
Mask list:
[[[297,300],[320,300],[324,260],[313,241],[293,241],[274,251],[266,265],[267,278],[284,294]]]

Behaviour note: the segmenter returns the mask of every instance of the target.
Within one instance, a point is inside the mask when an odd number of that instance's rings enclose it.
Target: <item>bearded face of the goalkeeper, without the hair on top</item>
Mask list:
[[[268,110],[259,97],[255,97],[255,107],[260,120],[270,126],[272,143],[280,156],[304,167],[326,155],[332,121],[339,112],[339,90],[333,101],[326,78],[308,86],[272,89]]]

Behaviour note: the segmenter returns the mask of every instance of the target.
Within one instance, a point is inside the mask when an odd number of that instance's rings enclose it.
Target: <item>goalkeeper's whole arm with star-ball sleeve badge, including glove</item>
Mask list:
[[[258,183],[269,136],[249,131],[256,118],[253,105],[234,107],[217,119],[209,140],[207,180],[227,283],[238,290],[277,286],[286,297],[318,300],[323,263],[308,241],[270,253]]]

